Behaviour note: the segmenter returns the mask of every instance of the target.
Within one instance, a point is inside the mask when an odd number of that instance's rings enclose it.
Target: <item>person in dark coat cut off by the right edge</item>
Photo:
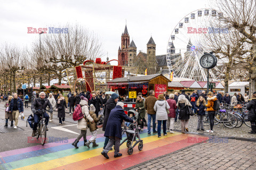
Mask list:
[[[247,105],[248,121],[251,122],[251,128],[252,128],[252,131],[248,132],[248,133],[251,133],[251,134],[256,134],[256,111],[255,111],[255,107],[256,107],[256,91],[253,93],[252,99],[251,99],[251,101],[249,101],[249,103]]]

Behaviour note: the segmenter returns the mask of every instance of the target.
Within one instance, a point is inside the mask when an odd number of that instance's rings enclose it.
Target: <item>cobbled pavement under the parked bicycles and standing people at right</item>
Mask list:
[[[206,131],[197,131],[197,116],[190,116],[189,119],[189,132],[209,134]],[[205,130],[210,130],[210,125],[204,126]],[[175,122],[174,130],[181,130],[180,121]],[[251,128],[243,124],[240,128],[229,129],[222,123],[213,126],[213,133],[211,135],[217,135],[218,137],[242,137],[242,138],[256,138],[256,134],[248,133]]]

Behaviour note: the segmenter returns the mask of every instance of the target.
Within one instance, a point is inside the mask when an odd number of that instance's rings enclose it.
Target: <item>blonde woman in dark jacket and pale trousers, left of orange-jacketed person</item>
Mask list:
[[[197,129],[196,129],[197,131],[199,131],[200,128],[202,131],[204,131],[204,116],[206,111],[205,104],[206,104],[206,101],[204,97],[200,96],[196,101],[196,105],[194,106],[195,109],[197,110],[197,118],[198,118]]]

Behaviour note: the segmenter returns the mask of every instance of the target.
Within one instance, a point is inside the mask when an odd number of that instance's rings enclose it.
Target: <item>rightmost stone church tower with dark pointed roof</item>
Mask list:
[[[147,71],[149,74],[156,74],[156,44],[150,37],[147,44]]]

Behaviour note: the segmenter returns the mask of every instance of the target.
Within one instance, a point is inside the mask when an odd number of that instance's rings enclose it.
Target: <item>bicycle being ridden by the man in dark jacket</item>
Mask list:
[[[38,112],[40,110],[37,110],[36,112]],[[40,137],[41,139],[41,145],[44,145],[45,141],[46,141],[46,119],[43,117],[43,114],[46,111],[44,109],[42,109],[42,113],[39,113],[39,120],[38,120],[38,124],[36,127],[36,137],[37,139]]]

